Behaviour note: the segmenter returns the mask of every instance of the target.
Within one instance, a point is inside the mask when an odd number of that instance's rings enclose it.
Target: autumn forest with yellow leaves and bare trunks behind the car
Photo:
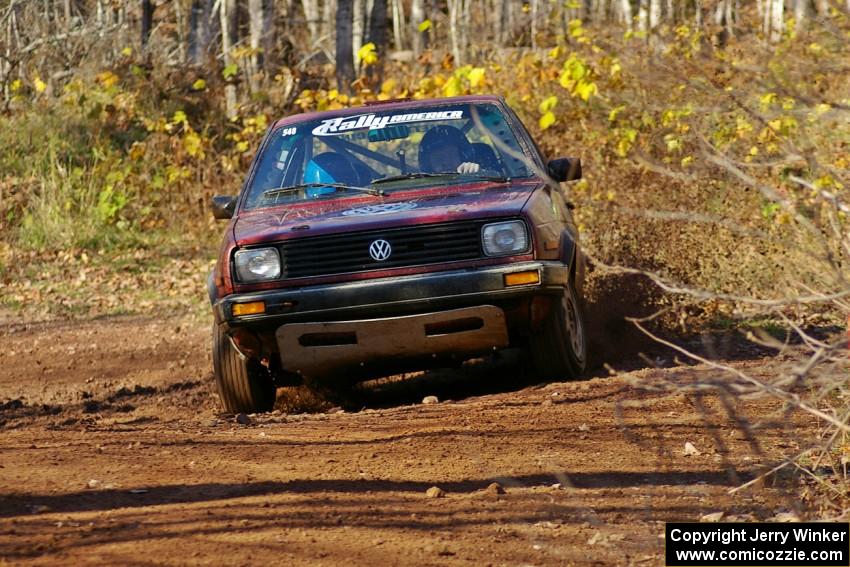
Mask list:
[[[465,93],[505,96],[544,153],[583,158],[569,190],[598,266],[694,288],[664,299],[689,304],[683,328],[747,312],[723,297],[834,295],[848,14],[835,0],[10,0],[0,273],[30,287],[3,301],[33,308],[45,285],[10,275],[20,254],[49,270],[161,246],[201,262],[209,198],[238,190],[277,118]],[[50,285],[45,313],[104,308]]]

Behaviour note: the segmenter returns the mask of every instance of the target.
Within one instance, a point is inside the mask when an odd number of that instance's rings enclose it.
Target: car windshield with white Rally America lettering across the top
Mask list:
[[[530,157],[494,104],[364,109],[275,130],[245,208],[528,177]]]

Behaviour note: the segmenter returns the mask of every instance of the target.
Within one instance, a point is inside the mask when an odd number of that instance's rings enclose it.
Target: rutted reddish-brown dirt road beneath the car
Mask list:
[[[218,413],[208,325],[0,326],[0,563],[659,565],[664,521],[791,510],[776,486],[727,492],[814,427],[735,400],[754,451],[718,398],[670,389],[731,379],[669,357],[546,385],[506,357],[242,425]]]

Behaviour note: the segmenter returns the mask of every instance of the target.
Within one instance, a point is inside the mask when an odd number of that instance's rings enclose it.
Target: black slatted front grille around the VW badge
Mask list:
[[[285,277],[303,278],[421,266],[481,258],[481,225],[465,221],[370,230],[314,238],[296,238],[280,245]],[[383,261],[372,259],[369,246],[378,239],[392,246]]]

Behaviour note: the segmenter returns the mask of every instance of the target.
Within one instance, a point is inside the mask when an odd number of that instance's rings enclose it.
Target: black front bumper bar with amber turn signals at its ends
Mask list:
[[[505,275],[537,270],[539,283],[507,286]],[[228,295],[213,310],[230,328],[274,330],[287,323],[330,322],[433,312],[562,293],[570,267],[560,262],[521,262],[392,278]],[[233,305],[265,302],[265,313],[234,316]]]

